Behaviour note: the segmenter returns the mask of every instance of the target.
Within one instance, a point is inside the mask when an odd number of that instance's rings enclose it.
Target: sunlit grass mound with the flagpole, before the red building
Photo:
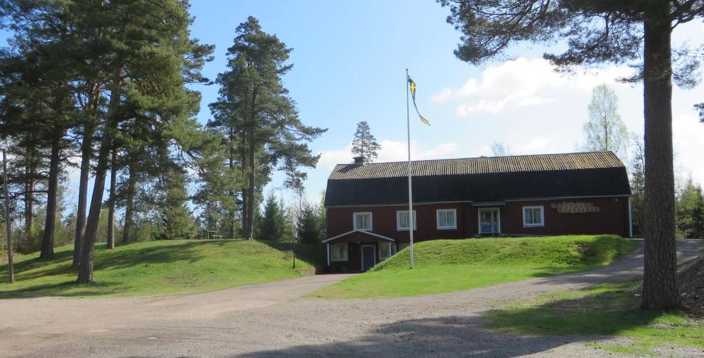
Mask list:
[[[618,236],[551,236],[434,240],[398,252],[374,269],[322,288],[315,298],[427,295],[603,267],[634,250]]]

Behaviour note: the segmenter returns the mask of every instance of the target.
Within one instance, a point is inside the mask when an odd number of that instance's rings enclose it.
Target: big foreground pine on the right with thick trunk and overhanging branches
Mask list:
[[[474,65],[524,42],[565,51],[545,57],[562,69],[575,65],[629,63],[639,68],[645,109],[646,241],[643,295],[646,309],[680,307],[675,250],[672,163],[672,80],[691,87],[691,51],[672,56],[672,30],[701,20],[701,1],[439,0],[448,22],[463,32],[458,58]],[[642,60],[642,62],[641,62]],[[681,60],[681,61],[678,61]]]

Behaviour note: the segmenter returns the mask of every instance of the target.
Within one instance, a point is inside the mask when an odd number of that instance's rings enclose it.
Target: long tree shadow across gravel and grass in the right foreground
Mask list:
[[[571,343],[632,336],[637,342],[698,347],[704,330],[679,312],[638,308],[637,283],[612,283],[556,293],[554,299],[523,302],[479,317],[450,316],[383,324],[360,338],[262,350],[230,357],[523,357],[546,354]],[[667,321],[667,324],[662,322]],[[342,326],[344,327],[344,326]],[[699,333],[696,333],[699,331]],[[683,338],[685,337],[685,338]],[[686,339],[686,340],[683,340]],[[699,343],[697,343],[699,342]],[[627,344],[627,343],[626,343]],[[593,356],[594,347],[577,344],[565,354]],[[692,348],[701,352],[700,348]],[[608,352],[601,351],[602,355]],[[562,354],[562,353],[560,353]]]

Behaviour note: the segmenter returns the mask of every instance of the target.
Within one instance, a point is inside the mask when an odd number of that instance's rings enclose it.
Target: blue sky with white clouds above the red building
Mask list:
[[[203,70],[210,79],[225,70],[234,29],[249,15],[294,48],[290,62],[295,65],[284,83],[298,103],[301,120],[328,128],[310,143],[322,158],[308,171],[309,200],[318,200],[335,163],[351,161],[349,143],[361,120],[370,123],[382,143],[377,161],[406,159],[406,68],[417,83],[421,113],[432,122],[425,127],[411,117],[416,159],[489,155],[493,141],[506,143],[515,154],[574,151],[583,141],[591,89],[601,83],[615,89],[629,130],[642,133],[642,87],[614,82],[627,68],[606,65],[566,77],[541,59],[544,48],[527,45],[474,67],[453,55],[460,34],[446,23],[448,9],[432,0],[191,2],[193,36],[216,46],[215,60]],[[680,27],[674,43],[701,44],[702,33],[702,23]],[[197,89],[203,94],[198,119],[205,123],[218,88]],[[701,101],[703,86],[674,91],[678,172],[700,182],[704,124],[698,123],[692,104]],[[72,172],[70,187],[76,178]],[[267,191],[281,181],[275,175]]]

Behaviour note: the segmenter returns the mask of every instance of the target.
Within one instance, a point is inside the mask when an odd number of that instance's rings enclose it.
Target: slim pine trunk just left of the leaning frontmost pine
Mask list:
[[[78,267],[86,226],[86,206],[88,200],[88,180],[90,179],[90,159],[93,156],[92,125],[86,124],[81,143],[81,174],[78,179],[78,207],[76,210],[76,232],[73,238],[73,267]]]

